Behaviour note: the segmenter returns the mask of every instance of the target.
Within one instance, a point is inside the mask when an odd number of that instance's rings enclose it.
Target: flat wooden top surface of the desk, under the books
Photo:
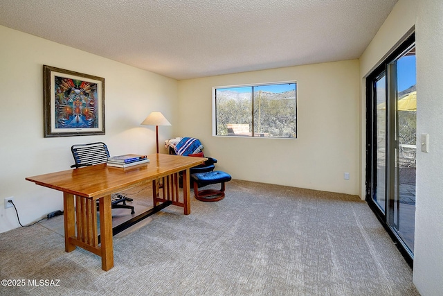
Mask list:
[[[152,154],[147,158],[150,159],[149,163],[128,168],[97,164],[96,166],[84,166],[67,171],[26,177],[26,180],[51,189],[97,199],[120,189],[147,183],[156,178],[198,166],[206,160],[201,157],[167,154]]]

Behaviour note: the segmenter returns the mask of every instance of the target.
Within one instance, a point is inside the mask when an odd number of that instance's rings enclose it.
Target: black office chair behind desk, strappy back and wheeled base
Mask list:
[[[71,146],[71,152],[75,161],[71,168],[105,164],[109,158],[109,150],[103,142],[75,144]],[[131,214],[134,214],[134,207],[126,204],[126,202],[132,202],[132,200],[132,198],[127,198],[121,194],[114,195],[111,199],[111,209],[130,209]],[[120,202],[123,202],[123,204],[120,204]]]

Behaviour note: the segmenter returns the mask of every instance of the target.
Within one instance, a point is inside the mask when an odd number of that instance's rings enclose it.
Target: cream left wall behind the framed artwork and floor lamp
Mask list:
[[[0,232],[19,227],[4,198],[15,197],[21,224],[63,208],[61,193],[25,177],[69,169],[73,143],[105,141],[113,155],[155,153],[154,127],[141,121],[159,110],[178,123],[177,80],[4,26],[0,39]],[[105,135],[43,137],[43,64],[105,78]],[[171,127],[159,130],[161,141],[172,137]]]

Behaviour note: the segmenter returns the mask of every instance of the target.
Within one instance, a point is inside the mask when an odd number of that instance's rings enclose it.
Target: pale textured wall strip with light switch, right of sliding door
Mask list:
[[[441,0],[421,1],[416,26],[417,134],[429,134],[429,153],[417,153],[414,283],[422,295],[443,295],[442,19]]]

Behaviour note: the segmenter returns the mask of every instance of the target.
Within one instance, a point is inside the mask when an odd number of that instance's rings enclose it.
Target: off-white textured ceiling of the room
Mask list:
[[[176,79],[359,58],[397,0],[0,0],[0,24]]]

